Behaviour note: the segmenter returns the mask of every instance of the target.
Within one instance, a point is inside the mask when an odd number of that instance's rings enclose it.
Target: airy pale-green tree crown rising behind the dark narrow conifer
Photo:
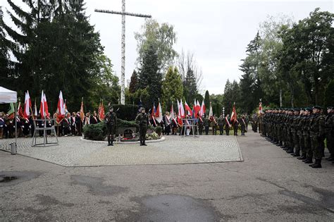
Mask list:
[[[168,66],[173,63],[173,60],[178,53],[173,49],[173,44],[176,42],[176,33],[173,25],[167,23],[159,24],[154,19],[147,19],[142,25],[142,33],[136,32],[137,51],[139,57],[138,63],[142,63],[146,52],[150,47],[156,50],[157,64],[159,64],[159,72],[165,73]]]

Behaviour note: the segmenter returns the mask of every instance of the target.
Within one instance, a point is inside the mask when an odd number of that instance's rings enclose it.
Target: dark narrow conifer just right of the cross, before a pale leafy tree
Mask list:
[[[140,71],[138,73],[138,87],[142,90],[147,89],[151,103],[157,104],[161,98],[162,74],[159,72],[159,60],[154,46],[149,46],[144,51]],[[150,104],[145,104],[150,106]]]

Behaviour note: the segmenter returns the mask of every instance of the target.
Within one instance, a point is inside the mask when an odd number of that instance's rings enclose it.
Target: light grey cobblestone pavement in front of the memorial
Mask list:
[[[42,142],[38,138],[37,143]],[[55,140],[55,138],[49,138]],[[139,144],[94,143],[80,137],[59,137],[59,145],[31,147],[32,139],[18,138],[18,154],[61,166],[112,166],[144,164],[196,164],[242,161],[239,144],[233,136],[167,136],[163,142]],[[0,149],[8,149],[14,140],[1,140]]]

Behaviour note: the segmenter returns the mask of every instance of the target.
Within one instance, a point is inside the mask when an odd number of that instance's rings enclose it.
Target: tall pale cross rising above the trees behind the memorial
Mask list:
[[[122,0],[122,11],[109,11],[95,9],[99,13],[122,15],[122,43],[121,43],[121,68],[120,68],[120,104],[125,104],[125,16],[151,18],[149,15],[125,12],[125,0]]]

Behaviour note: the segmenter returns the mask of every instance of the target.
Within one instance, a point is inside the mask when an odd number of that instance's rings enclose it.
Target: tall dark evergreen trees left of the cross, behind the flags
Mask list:
[[[44,90],[50,111],[56,110],[60,90],[72,110],[80,109],[82,97],[85,110],[96,108],[101,97],[117,102],[118,79],[104,56],[99,33],[85,15],[84,1],[24,2],[27,11],[8,0],[16,27],[2,25],[16,58],[11,61],[15,78],[5,86],[22,98],[29,90],[37,100]]]

